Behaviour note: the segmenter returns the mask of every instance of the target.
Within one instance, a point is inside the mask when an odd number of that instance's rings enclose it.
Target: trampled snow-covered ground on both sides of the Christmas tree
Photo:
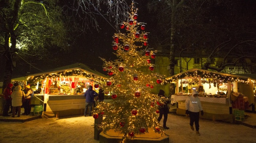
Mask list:
[[[162,119],[163,120],[163,119]],[[161,120],[161,124],[162,124]],[[94,140],[92,116],[66,116],[30,122],[0,122],[0,143],[99,143]],[[189,118],[169,114],[170,143],[255,143],[256,129],[200,119],[201,136],[189,127]]]

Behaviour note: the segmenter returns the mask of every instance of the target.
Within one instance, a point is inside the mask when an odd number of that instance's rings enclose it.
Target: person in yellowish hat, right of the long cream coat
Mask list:
[[[25,112],[22,115],[29,115],[31,108],[30,108],[30,98],[33,91],[30,89],[30,85],[25,86],[25,95],[23,96],[23,107]]]

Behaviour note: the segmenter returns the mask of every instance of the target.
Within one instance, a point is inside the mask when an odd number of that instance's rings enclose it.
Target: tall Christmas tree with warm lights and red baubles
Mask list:
[[[120,31],[113,36],[113,49],[118,59],[104,61],[103,70],[110,78],[103,85],[104,92],[112,95],[111,103],[100,102],[94,111],[94,118],[106,115],[98,125],[103,132],[110,129],[121,131],[124,138],[136,134],[145,134],[148,128],[165,134],[165,129],[158,122],[158,105],[164,99],[150,93],[156,84],[162,83],[162,76],[154,72],[150,58],[155,58],[156,51],[150,51],[145,32],[145,23],[137,22],[137,10],[133,4],[127,22],[120,24]],[[144,49],[143,49],[144,48]],[[150,72],[142,72],[147,68]],[[158,105],[157,105],[158,104]]]

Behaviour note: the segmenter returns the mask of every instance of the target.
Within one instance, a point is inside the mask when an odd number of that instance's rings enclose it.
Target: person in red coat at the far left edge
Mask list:
[[[3,111],[3,116],[8,117],[8,111],[12,105],[12,99],[11,99],[11,94],[12,94],[12,83],[9,83],[6,88],[4,88],[4,99],[5,99],[5,104],[4,104],[4,111]]]

